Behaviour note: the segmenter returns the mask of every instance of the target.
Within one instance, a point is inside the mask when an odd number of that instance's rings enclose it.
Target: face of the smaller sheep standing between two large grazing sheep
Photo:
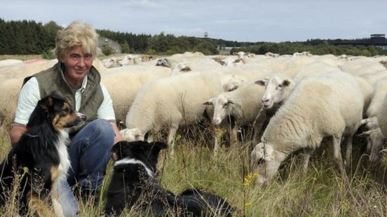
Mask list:
[[[222,123],[222,120],[229,115],[234,102],[228,97],[226,97],[224,94],[220,94],[218,97],[212,98],[204,104],[214,106],[214,116],[212,117],[212,124],[220,125],[220,123]]]

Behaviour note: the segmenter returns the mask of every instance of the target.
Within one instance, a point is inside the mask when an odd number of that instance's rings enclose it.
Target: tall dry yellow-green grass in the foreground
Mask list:
[[[256,175],[249,174],[249,139],[240,148],[222,147],[212,154],[212,139],[205,128],[179,132],[175,139],[175,154],[162,151],[158,170],[161,186],[173,193],[185,188],[204,188],[226,198],[238,208],[236,216],[387,216],[386,165],[374,171],[365,169],[365,158],[354,153],[354,169],[346,185],[334,169],[332,150],[322,147],[311,158],[308,171],[301,169],[301,157],[294,155],[280,167],[277,179],[256,186]],[[0,150],[4,158],[10,148],[8,131],[0,127]],[[359,144],[354,146],[360,146]],[[362,159],[362,160],[360,160]],[[359,161],[360,160],[360,161]],[[111,165],[108,165],[110,167]],[[88,201],[79,201],[80,216],[100,216],[104,207],[104,192],[109,183],[110,169],[101,194]],[[0,209],[0,215],[12,214],[10,202]],[[126,210],[121,216],[144,216]]]

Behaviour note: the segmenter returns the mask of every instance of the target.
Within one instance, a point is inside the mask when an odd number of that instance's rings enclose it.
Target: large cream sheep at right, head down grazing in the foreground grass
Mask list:
[[[347,73],[327,73],[300,80],[251,153],[250,167],[259,175],[257,183],[272,179],[280,163],[300,148],[308,151],[308,158],[325,137],[332,138],[334,163],[345,178],[340,141],[345,137],[349,164],[352,138],[362,119],[363,104],[358,83]],[[304,161],[304,169],[307,162]]]

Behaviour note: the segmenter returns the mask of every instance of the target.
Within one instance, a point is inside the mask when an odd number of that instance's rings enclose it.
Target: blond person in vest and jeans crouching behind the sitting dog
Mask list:
[[[55,38],[58,63],[25,78],[11,129],[11,142],[15,145],[26,131],[29,116],[39,99],[53,90],[67,99],[73,109],[87,116],[84,125],[70,132],[72,168],[67,183],[60,183],[57,187],[66,216],[74,216],[78,211],[69,186],[79,183],[81,193],[95,192],[104,178],[111,146],[122,140],[113,103],[107,89],[100,83],[100,73],[93,67],[97,43],[95,29],[81,22],[72,22],[58,31]]]

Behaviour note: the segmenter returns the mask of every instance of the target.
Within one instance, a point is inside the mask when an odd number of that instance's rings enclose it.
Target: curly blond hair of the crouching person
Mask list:
[[[81,46],[83,52],[95,57],[98,46],[98,34],[95,29],[86,23],[74,21],[65,29],[57,31],[55,38],[55,55],[60,62],[64,62],[69,50]]]

